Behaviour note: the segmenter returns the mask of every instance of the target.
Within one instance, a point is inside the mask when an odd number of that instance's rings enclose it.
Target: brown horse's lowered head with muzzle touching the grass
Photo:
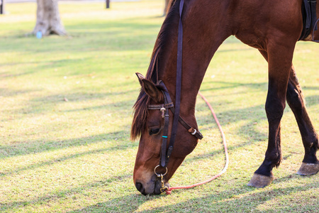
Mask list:
[[[167,138],[167,141],[169,141],[172,133],[174,114],[169,109],[172,103],[164,104],[165,94],[163,90],[165,88],[160,84],[146,80],[139,73],[137,75],[142,90],[135,104],[131,137],[135,139],[140,136],[140,144],[135,160],[133,180],[135,187],[143,195],[158,195],[164,192],[165,187],[169,187],[169,179],[172,178],[172,175],[181,165],[186,155],[194,150],[198,138],[191,135],[184,128],[184,125],[179,124],[174,149],[172,154],[169,155],[169,162],[167,165],[161,165],[162,146],[165,146],[164,151],[169,147],[168,143],[163,145],[163,138]],[[165,122],[164,117],[167,115],[168,121]],[[194,120],[192,116],[190,117],[185,116],[184,119],[186,121]]]

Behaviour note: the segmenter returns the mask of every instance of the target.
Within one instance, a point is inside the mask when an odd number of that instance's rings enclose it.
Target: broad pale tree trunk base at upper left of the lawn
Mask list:
[[[32,33],[67,35],[60,19],[57,0],[37,0],[37,4],[37,23]]]

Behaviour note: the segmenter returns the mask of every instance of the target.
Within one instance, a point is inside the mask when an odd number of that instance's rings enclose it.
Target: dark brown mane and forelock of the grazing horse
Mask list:
[[[159,59],[162,57],[164,47],[167,45],[167,40],[171,39],[172,25],[174,24],[174,17],[177,17],[179,11],[179,4],[175,4],[179,0],[171,0],[169,4],[169,13],[162,24],[162,28],[159,31],[155,46],[152,52],[152,60],[150,66],[147,69],[145,78],[157,84],[158,81],[158,65]],[[159,88],[160,89],[160,88]],[[147,107],[150,104],[150,97],[145,93],[144,89],[140,89],[140,94],[137,101],[133,105],[133,122],[130,129],[130,139],[135,141],[142,134],[145,129],[145,123],[148,116]]]

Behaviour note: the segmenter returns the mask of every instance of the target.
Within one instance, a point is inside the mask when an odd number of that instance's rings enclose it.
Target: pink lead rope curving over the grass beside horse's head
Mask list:
[[[207,106],[209,107],[209,109],[211,109],[211,113],[213,114],[213,117],[216,121],[216,124],[219,128],[219,131],[223,137],[223,145],[224,145],[224,150],[225,150],[225,158],[226,158],[226,162],[225,162],[225,167],[223,168],[223,170],[220,171],[220,173],[218,173],[217,175],[213,176],[212,178],[209,178],[208,180],[205,180],[203,182],[198,182],[196,184],[193,185],[186,185],[186,186],[179,186],[179,187],[169,187],[169,189],[166,191],[166,195],[170,195],[172,193],[172,190],[179,190],[179,189],[190,189],[192,187],[196,187],[198,185],[203,185],[207,182],[211,182],[212,180],[218,178],[220,175],[223,175],[223,173],[225,173],[225,171],[228,168],[228,164],[229,164],[229,158],[228,158],[228,149],[227,149],[227,144],[226,144],[226,138],[225,138],[225,134],[223,132],[222,127],[219,124],[219,121],[217,119],[217,116],[213,110],[213,107],[211,107],[211,104],[209,104],[208,100],[203,96],[203,94],[201,94],[201,92],[198,92],[199,96],[204,100],[204,102],[206,102]]]

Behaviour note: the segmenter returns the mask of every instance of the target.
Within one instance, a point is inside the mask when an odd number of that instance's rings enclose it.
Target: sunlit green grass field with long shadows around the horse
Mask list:
[[[25,36],[35,3],[0,16],[0,212],[319,212],[319,175],[296,171],[303,146],[291,109],[282,119],[283,161],[264,189],[247,187],[267,148],[267,63],[229,38],[201,92],[228,139],[222,177],[172,195],[145,197],[133,184],[138,141],[129,141],[135,72],[145,74],[164,1],[60,3],[69,36]],[[293,63],[319,129],[319,45],[298,43]],[[224,165],[220,133],[198,98],[203,140],[170,180],[191,184]]]

